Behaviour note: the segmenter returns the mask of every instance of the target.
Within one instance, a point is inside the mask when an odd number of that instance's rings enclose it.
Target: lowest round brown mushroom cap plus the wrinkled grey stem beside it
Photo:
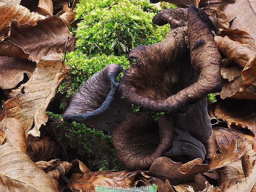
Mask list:
[[[190,161],[206,155],[199,140],[173,128],[170,114],[161,115],[156,123],[150,114],[133,112],[111,136],[120,163],[129,170],[147,170],[161,156]]]

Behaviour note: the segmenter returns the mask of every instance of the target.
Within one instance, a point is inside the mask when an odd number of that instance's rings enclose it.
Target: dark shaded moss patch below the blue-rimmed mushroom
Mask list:
[[[62,116],[51,112],[47,112],[47,115],[56,123],[55,130],[69,155],[69,161],[79,159],[91,171],[124,170],[116,158],[109,135],[81,123],[63,122]]]

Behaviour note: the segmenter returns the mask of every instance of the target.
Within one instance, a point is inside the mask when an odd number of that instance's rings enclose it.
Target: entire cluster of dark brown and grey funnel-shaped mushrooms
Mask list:
[[[147,170],[161,156],[204,159],[202,143],[211,135],[205,96],[221,91],[216,18],[190,5],[164,9],[152,21],[170,24],[166,38],[133,48],[120,83],[119,65],[96,73],[64,113],[64,121],[111,131],[117,157],[130,170]],[[165,113],[156,122],[149,113],[133,112],[131,104]]]

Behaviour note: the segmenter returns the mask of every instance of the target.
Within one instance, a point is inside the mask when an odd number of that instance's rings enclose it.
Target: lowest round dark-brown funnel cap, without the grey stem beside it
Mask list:
[[[147,170],[173,143],[173,120],[165,114],[158,124],[150,114],[130,113],[112,131],[116,154],[126,168]]]

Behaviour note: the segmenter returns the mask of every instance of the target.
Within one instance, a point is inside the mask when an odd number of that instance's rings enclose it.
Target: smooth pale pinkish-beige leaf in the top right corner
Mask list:
[[[239,28],[242,31],[246,31],[254,40],[256,38],[256,31],[254,22],[256,19],[256,3],[253,0],[236,0],[235,4],[227,5],[224,13],[227,15],[228,20],[232,22],[230,28]]]

